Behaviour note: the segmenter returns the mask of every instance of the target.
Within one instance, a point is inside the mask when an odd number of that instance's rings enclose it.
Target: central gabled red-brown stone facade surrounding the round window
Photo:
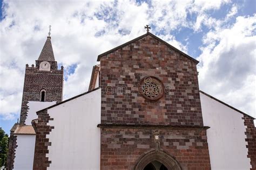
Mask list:
[[[151,159],[163,163],[164,155],[170,158],[165,165],[169,168],[168,162],[176,160],[171,169],[211,169],[198,62],[151,33],[99,57],[100,169],[143,169]],[[165,86],[157,101],[139,93],[138,84],[146,76],[157,77]],[[142,159],[149,152],[155,154]]]

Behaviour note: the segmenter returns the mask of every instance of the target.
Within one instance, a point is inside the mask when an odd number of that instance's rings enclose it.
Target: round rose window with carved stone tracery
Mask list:
[[[157,77],[146,76],[140,80],[140,92],[149,100],[158,100],[164,95],[164,85]]]

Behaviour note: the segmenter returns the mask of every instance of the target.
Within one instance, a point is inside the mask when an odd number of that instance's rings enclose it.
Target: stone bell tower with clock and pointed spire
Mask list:
[[[63,95],[63,66],[58,69],[57,61],[53,54],[51,37],[48,36],[44,47],[36,60],[36,66],[26,65],[20,124],[31,124],[28,118],[30,109],[43,109],[49,102],[59,103]],[[33,103],[33,105],[29,104]],[[48,104],[47,104],[48,103]],[[31,108],[30,108],[31,107]]]

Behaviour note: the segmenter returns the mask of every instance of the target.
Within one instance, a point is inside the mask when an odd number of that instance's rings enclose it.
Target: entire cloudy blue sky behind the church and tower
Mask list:
[[[256,117],[256,1],[0,1],[0,126],[21,108],[25,64],[52,26],[64,99],[87,90],[97,55],[151,32],[200,61],[200,89]],[[56,12],[57,11],[57,12]],[[15,50],[14,50],[15,49]]]

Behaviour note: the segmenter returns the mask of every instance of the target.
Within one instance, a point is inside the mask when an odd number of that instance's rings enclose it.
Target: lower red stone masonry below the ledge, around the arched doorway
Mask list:
[[[140,155],[157,150],[179,162],[182,169],[211,169],[206,129],[102,126],[100,169],[133,170]]]

